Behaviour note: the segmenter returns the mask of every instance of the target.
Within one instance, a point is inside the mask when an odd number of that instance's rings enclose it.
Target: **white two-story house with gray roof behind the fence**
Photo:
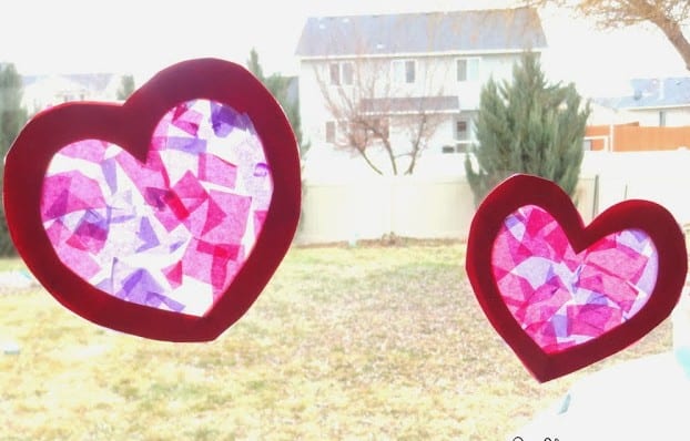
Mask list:
[[[296,49],[303,134],[312,151],[387,139],[384,163],[465,152],[483,85],[545,49],[529,8],[310,18]]]

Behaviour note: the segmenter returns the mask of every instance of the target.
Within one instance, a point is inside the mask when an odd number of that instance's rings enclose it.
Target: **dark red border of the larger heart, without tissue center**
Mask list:
[[[121,300],[91,286],[59,259],[40,214],[43,178],[60,148],[98,139],[145,162],[159,121],[175,105],[195,99],[216,101],[250,116],[274,187],[254,248],[231,286],[201,317]],[[283,110],[247,70],[217,59],[187,60],[164,69],[123,104],[73,102],[43,111],[21,131],[4,165],[3,204],[10,235],[43,287],[88,320],[156,340],[213,340],[240,319],[287,253],[300,218],[300,202],[297,144]]]

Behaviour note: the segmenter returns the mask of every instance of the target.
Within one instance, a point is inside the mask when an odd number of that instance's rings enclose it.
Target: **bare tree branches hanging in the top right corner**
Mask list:
[[[532,7],[558,6],[596,20],[600,28],[651,23],[671,42],[690,71],[690,42],[683,25],[690,24],[688,0],[519,0]],[[687,32],[687,31],[686,31]]]

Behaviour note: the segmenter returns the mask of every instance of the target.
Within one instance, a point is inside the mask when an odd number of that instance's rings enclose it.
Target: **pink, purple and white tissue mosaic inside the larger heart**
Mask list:
[[[195,316],[230,286],[273,194],[246,115],[206,100],[171,110],[145,164],[84,140],[52,158],[41,216],[60,260],[121,299]]]

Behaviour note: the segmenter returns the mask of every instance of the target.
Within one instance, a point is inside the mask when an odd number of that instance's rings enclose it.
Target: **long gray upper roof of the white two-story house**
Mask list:
[[[546,48],[534,9],[310,18],[298,57],[519,51]]]

